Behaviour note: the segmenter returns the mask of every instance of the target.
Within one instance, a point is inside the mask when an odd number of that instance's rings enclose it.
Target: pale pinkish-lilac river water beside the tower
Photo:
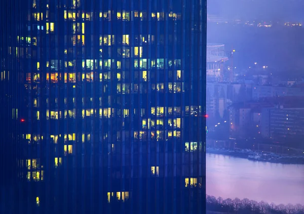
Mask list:
[[[304,204],[304,165],[206,154],[206,193],[275,204]]]

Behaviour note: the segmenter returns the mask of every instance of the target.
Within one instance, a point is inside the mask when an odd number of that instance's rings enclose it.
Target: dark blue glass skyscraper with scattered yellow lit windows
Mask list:
[[[1,8],[14,213],[203,213],[206,1]]]

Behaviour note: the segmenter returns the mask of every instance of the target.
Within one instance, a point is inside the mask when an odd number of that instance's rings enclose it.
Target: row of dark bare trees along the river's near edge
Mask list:
[[[265,201],[257,202],[248,198],[232,200],[210,195],[206,196],[206,208],[208,211],[238,214],[304,214],[304,205],[301,204],[276,205]]]

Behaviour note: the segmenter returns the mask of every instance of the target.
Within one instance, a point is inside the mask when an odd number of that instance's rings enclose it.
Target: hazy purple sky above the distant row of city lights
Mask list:
[[[304,21],[304,0],[207,0],[208,13],[224,18]]]

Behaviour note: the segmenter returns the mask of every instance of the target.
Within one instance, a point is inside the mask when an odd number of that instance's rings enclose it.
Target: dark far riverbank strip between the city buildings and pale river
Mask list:
[[[220,150],[207,148],[206,153],[245,158],[251,161],[282,164],[304,164],[304,156],[286,156],[274,153],[255,152],[252,150]]]

